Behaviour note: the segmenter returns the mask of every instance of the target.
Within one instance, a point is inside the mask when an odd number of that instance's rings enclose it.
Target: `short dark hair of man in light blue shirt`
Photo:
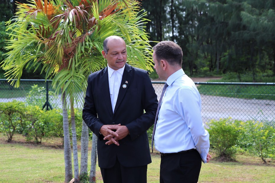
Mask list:
[[[158,64],[166,60],[170,65],[182,65],[182,49],[172,41],[161,41],[153,47]]]

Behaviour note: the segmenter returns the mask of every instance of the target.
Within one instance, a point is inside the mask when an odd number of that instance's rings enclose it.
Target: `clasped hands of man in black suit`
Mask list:
[[[109,140],[105,144],[115,144],[119,146],[119,140],[123,139],[129,134],[129,130],[125,125],[103,125],[100,128],[100,133],[104,136],[104,140]]]

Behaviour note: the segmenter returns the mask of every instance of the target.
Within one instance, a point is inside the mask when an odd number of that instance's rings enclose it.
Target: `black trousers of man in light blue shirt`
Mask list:
[[[160,183],[197,183],[201,168],[198,151],[161,156]]]

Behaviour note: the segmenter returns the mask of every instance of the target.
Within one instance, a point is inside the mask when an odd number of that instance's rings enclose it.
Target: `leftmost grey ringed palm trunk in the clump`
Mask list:
[[[65,160],[65,182],[72,179],[72,152],[69,133],[69,120],[67,111],[67,101],[65,92],[62,94],[62,109],[63,109],[63,133],[64,133],[64,160]]]

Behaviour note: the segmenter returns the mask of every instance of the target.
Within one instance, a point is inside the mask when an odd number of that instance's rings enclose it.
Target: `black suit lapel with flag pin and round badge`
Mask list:
[[[114,109],[114,113],[116,112],[117,108],[119,107],[119,104],[122,102],[124,95],[127,92],[127,89],[129,88],[129,85],[131,84],[131,67],[126,63],[125,64],[125,68],[124,68],[124,72],[123,72],[123,76],[122,76],[122,80],[121,80],[121,84],[119,87],[119,93],[118,93],[118,97],[117,97],[117,103]],[[126,85],[126,88],[125,88]]]

